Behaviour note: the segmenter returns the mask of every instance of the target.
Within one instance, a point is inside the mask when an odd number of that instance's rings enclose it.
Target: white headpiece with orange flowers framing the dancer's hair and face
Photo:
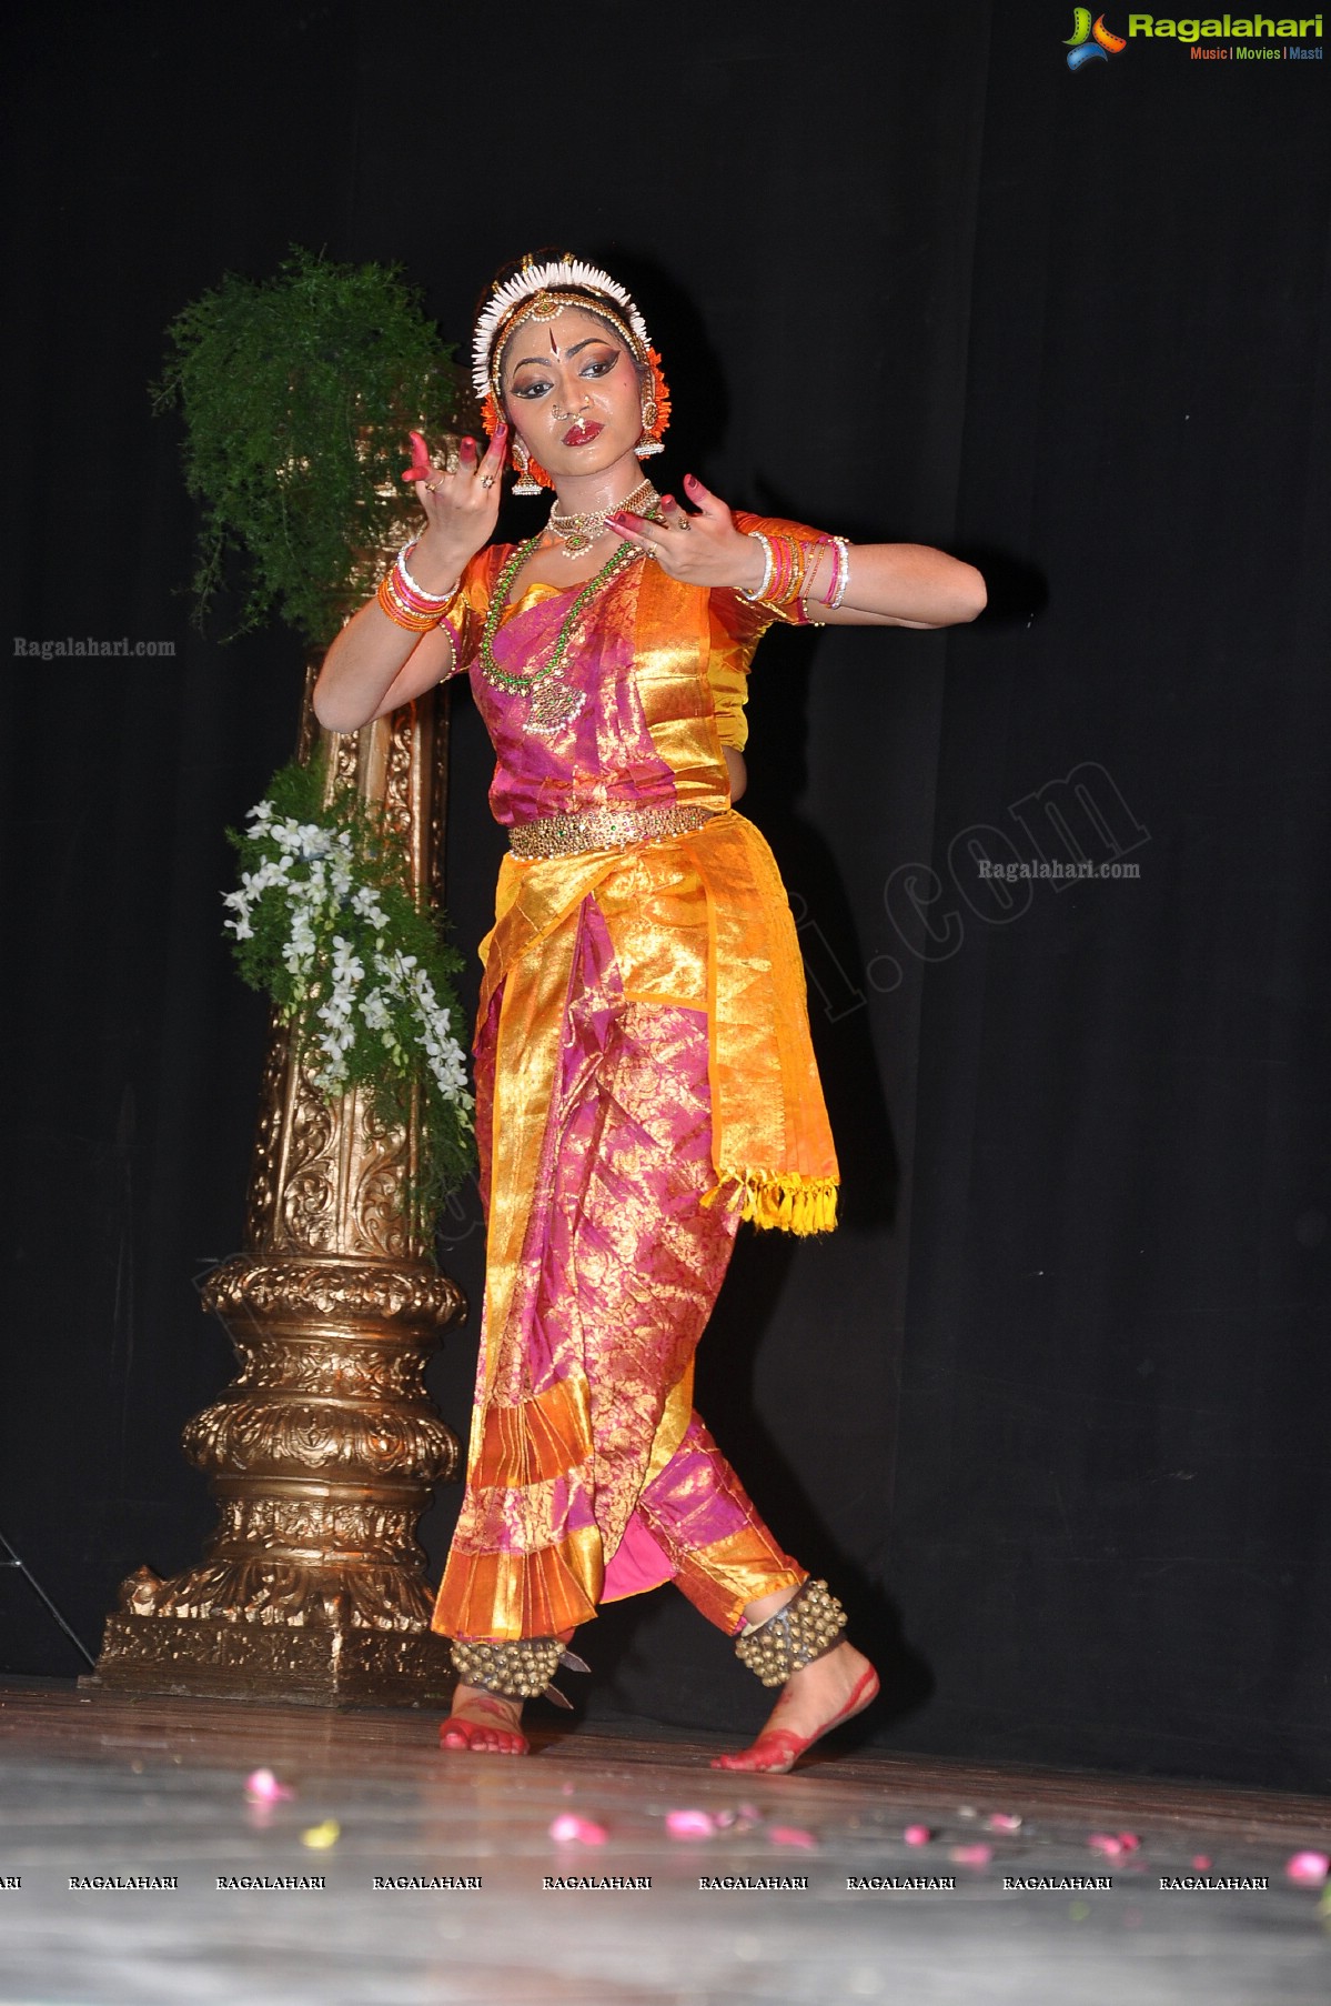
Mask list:
[[[670,389],[661,375],[661,357],[651,347],[647,327],[631,295],[599,265],[587,265],[569,251],[561,259],[537,263],[525,257],[521,267],[491,287],[471,337],[471,381],[481,399],[481,419],[493,437],[501,415],[499,369],[509,339],[527,321],[553,321],[565,307],[585,307],[597,313],[623,339],[649,383],[643,389],[643,435],[635,447],[639,459],[661,451],[661,433],[670,423]],[[517,443],[517,441],[515,441]],[[515,463],[523,461],[515,455]],[[523,471],[541,487],[553,481],[545,467],[529,459]]]

